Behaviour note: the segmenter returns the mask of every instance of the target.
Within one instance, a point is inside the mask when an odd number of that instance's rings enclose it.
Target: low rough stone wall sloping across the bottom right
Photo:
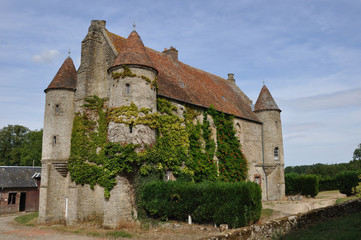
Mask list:
[[[305,214],[272,220],[262,225],[255,224],[252,226],[231,230],[214,237],[203,238],[203,240],[273,239],[274,237],[280,236],[281,234],[284,235],[295,228],[307,227],[310,224],[325,221],[333,217],[360,211],[361,199],[356,199],[325,208],[315,209]]]

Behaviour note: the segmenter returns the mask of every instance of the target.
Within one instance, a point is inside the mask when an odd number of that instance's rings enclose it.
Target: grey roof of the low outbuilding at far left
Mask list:
[[[37,187],[32,178],[41,172],[41,167],[5,167],[0,166],[0,188]],[[40,177],[40,174],[38,174]]]

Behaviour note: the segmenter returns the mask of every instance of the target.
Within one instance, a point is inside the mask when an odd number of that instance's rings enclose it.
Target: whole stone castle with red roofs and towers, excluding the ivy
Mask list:
[[[266,86],[253,105],[235,84],[233,74],[224,79],[196,69],[180,62],[173,47],[163,52],[149,49],[135,30],[123,38],[109,32],[105,21],[93,20],[82,41],[79,69],[68,57],[45,93],[40,222],[71,225],[96,216],[104,226],[115,227],[136,216],[134,189],[127,177],[116,177],[109,198],[104,197],[103,187],[71,179],[68,161],[74,116],[83,111],[88,96],[107,99],[109,109],[134,104],[154,113],[157,99],[166,99],[179,116],[187,106],[200,112],[213,106],[234,116],[236,137],[247,158],[248,180],[260,184],[264,200],[284,196],[281,110]],[[208,119],[215,141],[217,129]],[[156,130],[148,126],[116,121],[109,121],[106,134],[109,142],[141,146],[153,145],[156,136]],[[172,173],[168,177],[173,178]]]

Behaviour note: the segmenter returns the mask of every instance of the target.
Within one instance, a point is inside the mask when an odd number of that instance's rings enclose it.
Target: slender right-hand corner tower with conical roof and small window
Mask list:
[[[285,195],[281,110],[265,85],[258,96],[254,112],[263,123],[262,160],[266,174],[266,198],[278,200]]]

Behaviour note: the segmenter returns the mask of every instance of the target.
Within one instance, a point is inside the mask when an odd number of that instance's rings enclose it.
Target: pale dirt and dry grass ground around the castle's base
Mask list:
[[[321,192],[316,198],[305,198],[299,201],[291,201],[285,198],[282,201],[264,201],[264,214],[258,224],[284,216],[307,212],[312,209],[326,207],[335,204],[337,199],[346,198],[338,191]],[[272,209],[272,210],[271,210]],[[108,230],[96,227],[95,224],[87,223],[69,227],[63,225],[37,225],[33,227],[19,225],[14,222],[12,216],[0,216],[0,239],[115,239],[114,234],[121,231],[132,235],[129,237],[117,237],[116,239],[133,240],[195,240],[219,233],[219,228],[210,225],[188,225],[185,222],[157,223],[124,222],[117,230]],[[113,235],[112,235],[113,234]],[[113,236],[113,237],[112,237]]]

